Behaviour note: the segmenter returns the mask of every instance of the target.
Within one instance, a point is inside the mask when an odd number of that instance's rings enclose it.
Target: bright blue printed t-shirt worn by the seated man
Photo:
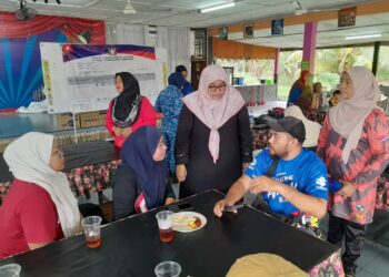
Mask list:
[[[258,154],[251,165],[245,171],[245,174],[250,178],[260,177],[266,174],[271,163],[269,150],[266,148]],[[295,187],[301,193],[327,201],[327,167],[319,156],[311,151],[302,150],[290,161],[279,160],[272,178]],[[262,193],[262,197],[273,213],[290,215],[299,212],[297,207],[278,193],[266,192]]]

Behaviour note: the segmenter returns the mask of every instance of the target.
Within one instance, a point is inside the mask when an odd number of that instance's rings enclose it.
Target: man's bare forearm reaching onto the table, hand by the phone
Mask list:
[[[232,206],[236,202],[240,201],[243,195],[250,189],[251,178],[247,175],[242,175],[237,182],[232,184],[226,197],[219,201],[215,207],[213,213],[216,216],[221,216],[226,206]]]

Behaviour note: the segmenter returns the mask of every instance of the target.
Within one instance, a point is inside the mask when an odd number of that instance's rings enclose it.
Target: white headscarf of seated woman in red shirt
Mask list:
[[[79,230],[80,212],[64,173],[49,166],[52,144],[52,135],[27,133],[8,145],[4,160],[16,178],[37,184],[49,193],[63,235],[69,237]]]

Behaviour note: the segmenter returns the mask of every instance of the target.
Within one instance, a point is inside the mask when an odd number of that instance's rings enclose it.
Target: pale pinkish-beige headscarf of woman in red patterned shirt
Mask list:
[[[377,107],[379,90],[370,70],[353,66],[345,72],[352,80],[355,94],[351,99],[342,99],[337,106],[330,109],[329,120],[335,131],[347,138],[342,151],[342,160],[347,163],[350,152],[358,145],[366,117]]]

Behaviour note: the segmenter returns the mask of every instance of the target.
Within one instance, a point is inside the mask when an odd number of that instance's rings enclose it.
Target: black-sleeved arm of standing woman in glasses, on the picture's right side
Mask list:
[[[252,162],[252,134],[250,129],[250,119],[247,107],[243,106],[238,114],[238,132],[240,143],[240,156],[242,163]]]

